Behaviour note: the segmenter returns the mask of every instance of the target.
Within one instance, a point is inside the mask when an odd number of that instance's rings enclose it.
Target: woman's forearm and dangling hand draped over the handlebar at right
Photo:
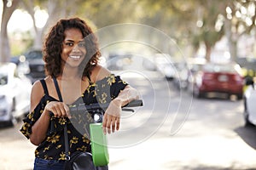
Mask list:
[[[108,109],[105,111],[102,122],[105,134],[107,131],[108,133],[113,133],[115,130],[119,130],[121,107],[138,98],[137,89],[131,88],[130,85],[125,86],[124,90],[120,91],[119,95],[110,102]]]

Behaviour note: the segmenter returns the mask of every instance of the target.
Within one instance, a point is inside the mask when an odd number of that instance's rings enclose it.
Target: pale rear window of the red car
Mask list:
[[[225,72],[225,73],[239,73],[241,68],[239,65],[204,65],[204,71],[207,72]]]

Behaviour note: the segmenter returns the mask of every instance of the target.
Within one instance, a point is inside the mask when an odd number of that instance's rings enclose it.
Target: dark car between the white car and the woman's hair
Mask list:
[[[25,62],[29,66],[29,72],[26,74],[33,82],[36,82],[38,79],[44,78],[44,60],[42,51],[39,49],[29,50],[24,54]]]

